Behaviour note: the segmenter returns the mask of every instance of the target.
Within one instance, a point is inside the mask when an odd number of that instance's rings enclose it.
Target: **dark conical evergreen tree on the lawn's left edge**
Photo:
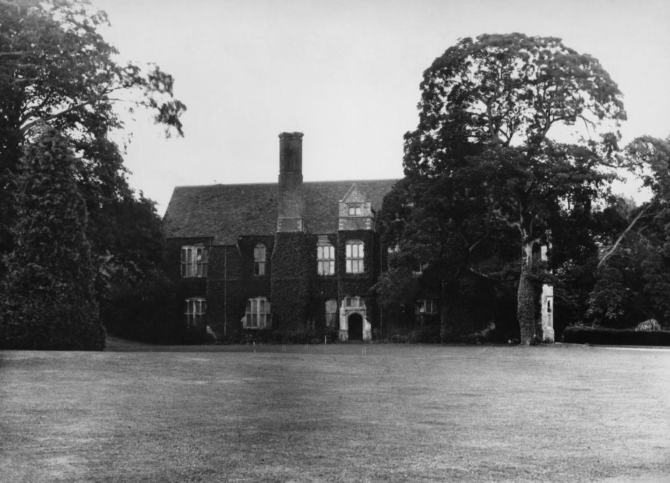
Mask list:
[[[16,177],[14,249],[6,257],[2,348],[102,349],[87,210],[66,140],[45,128]]]

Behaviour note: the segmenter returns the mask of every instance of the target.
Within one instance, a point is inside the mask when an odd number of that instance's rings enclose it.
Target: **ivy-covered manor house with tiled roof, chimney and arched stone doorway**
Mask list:
[[[382,332],[372,287],[387,249],[376,222],[396,180],[304,183],[302,137],[279,135],[278,183],[175,187],[168,272],[187,328],[343,341]]]

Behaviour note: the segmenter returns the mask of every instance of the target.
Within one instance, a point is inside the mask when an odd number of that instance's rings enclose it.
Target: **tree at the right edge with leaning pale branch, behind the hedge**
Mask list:
[[[621,154],[652,198],[641,206],[617,200],[607,213],[588,313],[617,328],[654,319],[670,323],[670,137],[641,136]]]

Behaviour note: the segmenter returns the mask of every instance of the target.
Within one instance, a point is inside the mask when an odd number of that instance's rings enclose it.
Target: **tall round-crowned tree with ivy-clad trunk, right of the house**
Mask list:
[[[470,253],[494,239],[493,227],[516,229],[517,318],[521,343],[533,344],[534,253],[551,242],[556,220],[588,212],[611,178],[604,167],[616,160],[618,135],[609,129],[625,119],[621,93],[597,59],[521,33],[460,40],[424,72],[421,90],[419,125],[405,135],[405,175],[457,181],[442,201],[463,200],[449,231],[463,231],[462,210]],[[588,140],[551,139],[558,125],[582,127]]]

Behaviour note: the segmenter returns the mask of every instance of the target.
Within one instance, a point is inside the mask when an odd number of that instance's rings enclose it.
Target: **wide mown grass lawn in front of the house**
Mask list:
[[[0,479],[669,481],[670,350],[0,353]]]

